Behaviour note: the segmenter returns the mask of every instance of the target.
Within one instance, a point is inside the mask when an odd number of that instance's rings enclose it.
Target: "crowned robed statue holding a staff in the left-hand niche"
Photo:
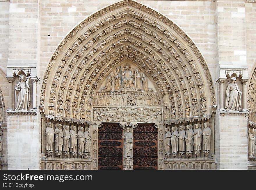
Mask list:
[[[15,110],[28,111],[30,101],[29,79],[25,81],[24,75],[19,75],[19,82],[15,86]]]

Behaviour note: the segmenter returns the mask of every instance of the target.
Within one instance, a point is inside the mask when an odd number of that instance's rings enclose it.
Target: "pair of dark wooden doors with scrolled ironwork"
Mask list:
[[[157,169],[157,128],[138,124],[133,131],[133,168]],[[99,128],[99,169],[123,169],[123,129],[118,123]]]

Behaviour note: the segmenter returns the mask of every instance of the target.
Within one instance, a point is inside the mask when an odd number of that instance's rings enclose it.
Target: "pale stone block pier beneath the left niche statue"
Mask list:
[[[41,120],[37,112],[7,112],[8,169],[40,169]]]

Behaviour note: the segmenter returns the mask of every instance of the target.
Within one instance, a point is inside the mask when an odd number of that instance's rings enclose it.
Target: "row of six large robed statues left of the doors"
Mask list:
[[[85,132],[83,132],[84,128],[79,126],[77,133],[76,126],[74,125],[71,125],[70,131],[68,125],[63,125],[63,130],[61,124],[56,124],[55,130],[53,130],[53,124],[51,122],[47,122],[46,126],[45,135],[47,156],[52,156],[55,142],[55,154],[57,156],[61,156],[63,151],[65,156],[72,153],[75,158],[77,156],[78,148],[79,157],[90,157],[92,142],[89,127],[85,127]]]

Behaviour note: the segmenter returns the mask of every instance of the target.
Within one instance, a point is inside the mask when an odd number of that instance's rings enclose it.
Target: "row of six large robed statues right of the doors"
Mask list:
[[[175,157],[178,152],[181,157],[184,156],[185,152],[186,156],[190,157],[191,153],[193,153],[193,146],[195,155],[199,156],[202,149],[205,156],[209,155],[211,144],[209,122],[204,123],[203,130],[200,129],[200,124],[195,124],[194,131],[192,128],[193,126],[191,124],[186,126],[186,132],[184,125],[179,126],[179,132],[177,131],[177,126],[171,129],[170,127],[165,128],[164,149],[167,158],[171,154]]]

